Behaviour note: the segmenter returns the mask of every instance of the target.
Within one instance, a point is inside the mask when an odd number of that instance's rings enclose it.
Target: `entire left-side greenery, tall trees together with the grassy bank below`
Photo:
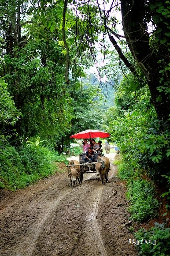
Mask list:
[[[61,153],[71,134],[100,127],[99,86],[80,80],[92,58],[86,49],[78,57],[76,16],[64,8],[63,1],[0,0],[2,188],[24,188],[53,173],[53,153],[30,144],[38,137]]]

